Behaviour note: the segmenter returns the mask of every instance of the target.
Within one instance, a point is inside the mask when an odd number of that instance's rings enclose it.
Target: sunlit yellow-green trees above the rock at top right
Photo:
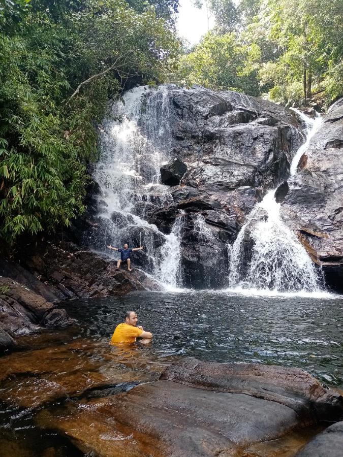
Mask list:
[[[328,105],[343,92],[342,0],[194,0],[215,20],[185,52],[177,81],[283,104]]]

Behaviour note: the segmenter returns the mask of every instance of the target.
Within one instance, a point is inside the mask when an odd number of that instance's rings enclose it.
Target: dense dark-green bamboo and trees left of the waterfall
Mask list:
[[[175,61],[175,0],[0,0],[0,237],[68,225],[109,97]]]

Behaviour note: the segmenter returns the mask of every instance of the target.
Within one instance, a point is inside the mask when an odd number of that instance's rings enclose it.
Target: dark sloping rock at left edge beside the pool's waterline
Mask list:
[[[0,276],[0,351],[15,346],[13,337],[60,328],[74,322],[64,309],[56,309],[37,293]]]

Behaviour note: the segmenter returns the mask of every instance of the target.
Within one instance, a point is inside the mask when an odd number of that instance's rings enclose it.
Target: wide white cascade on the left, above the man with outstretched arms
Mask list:
[[[161,165],[170,160],[171,151],[167,91],[137,87],[113,103],[102,124],[101,151],[93,173],[100,187],[99,223],[88,243],[107,254],[108,244],[143,245],[134,263],[140,262],[164,285],[176,287],[182,218],[170,235],[146,220],[149,210],[173,202],[169,187],[159,183]]]

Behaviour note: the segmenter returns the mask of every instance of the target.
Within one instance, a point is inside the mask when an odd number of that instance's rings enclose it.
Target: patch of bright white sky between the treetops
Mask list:
[[[210,19],[210,28],[213,22]],[[179,1],[179,14],[176,22],[177,31],[191,45],[198,43],[207,32],[206,8],[199,10],[193,6],[192,0]]]

